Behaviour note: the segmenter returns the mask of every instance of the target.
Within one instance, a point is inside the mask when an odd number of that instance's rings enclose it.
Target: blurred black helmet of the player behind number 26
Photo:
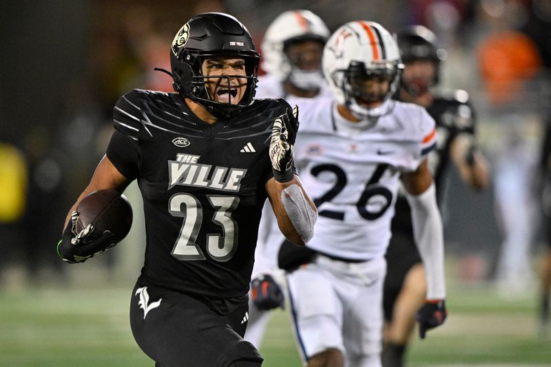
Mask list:
[[[407,64],[413,60],[432,60],[436,66],[435,80],[439,81],[440,62],[446,59],[446,50],[438,48],[435,34],[423,25],[410,25],[399,30],[396,34],[402,63]]]

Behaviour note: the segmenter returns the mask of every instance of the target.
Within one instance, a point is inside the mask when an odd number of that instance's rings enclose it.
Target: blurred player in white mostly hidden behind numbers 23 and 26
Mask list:
[[[322,52],[329,34],[324,21],[309,10],[278,15],[262,40],[262,68],[267,74],[258,78],[256,98],[285,98],[300,107],[300,98],[331,97],[322,72]],[[269,310],[284,305],[284,272],[277,263],[284,241],[280,233],[267,201],[260,221],[245,333],[245,340],[257,348],[270,320]]]

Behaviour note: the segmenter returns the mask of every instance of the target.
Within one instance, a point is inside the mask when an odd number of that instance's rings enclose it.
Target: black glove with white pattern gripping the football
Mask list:
[[[79,212],[71,212],[71,221],[63,231],[63,238],[57,244],[57,253],[67,263],[84,263],[95,254],[104,252],[116,243],[112,241],[110,231],[94,233],[94,225],[87,225],[81,232],[76,231]]]

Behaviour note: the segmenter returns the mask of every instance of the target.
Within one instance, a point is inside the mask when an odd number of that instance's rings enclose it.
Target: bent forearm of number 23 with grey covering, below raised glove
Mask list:
[[[280,183],[271,179],[268,183],[273,212],[282,234],[296,245],[306,244],[313,236],[318,210],[304,192],[298,177]]]

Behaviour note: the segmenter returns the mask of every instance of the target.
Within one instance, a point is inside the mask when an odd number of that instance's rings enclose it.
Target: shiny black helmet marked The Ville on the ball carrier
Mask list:
[[[213,56],[236,56],[245,60],[247,76],[240,78],[247,78],[247,90],[238,104],[216,102],[209,96],[201,65],[205,58]],[[174,90],[201,104],[217,118],[236,115],[242,107],[251,104],[259,62],[260,54],[256,52],[253,38],[245,25],[224,13],[204,13],[189,19],[176,33],[170,50]]]

